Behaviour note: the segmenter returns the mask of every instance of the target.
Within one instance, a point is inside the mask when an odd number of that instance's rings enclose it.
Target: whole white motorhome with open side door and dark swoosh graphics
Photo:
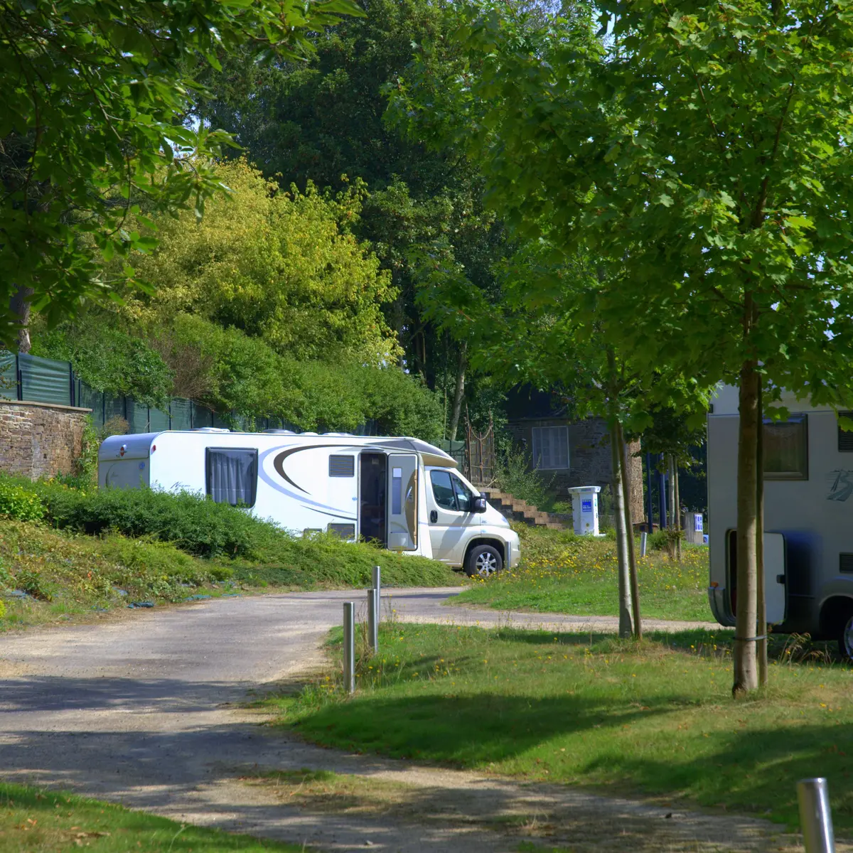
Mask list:
[[[195,492],[293,533],[373,540],[469,575],[519,560],[507,519],[456,460],[418,438],[210,427],[115,435],[98,451],[98,485]]]

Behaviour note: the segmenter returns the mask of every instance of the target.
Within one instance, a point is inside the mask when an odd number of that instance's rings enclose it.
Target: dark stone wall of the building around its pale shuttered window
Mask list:
[[[557,471],[543,471],[547,481],[554,478],[551,488],[560,497],[567,497],[567,490],[577,485],[600,485],[610,490],[612,461],[607,424],[602,418],[587,418],[584,421],[566,421],[565,418],[525,418],[510,421],[507,431],[516,446],[533,450],[533,427],[567,427],[569,435],[569,467]],[[629,444],[629,452],[640,450],[640,444]],[[630,461],[631,514],[635,524],[645,518],[643,509],[642,461],[631,456]]]

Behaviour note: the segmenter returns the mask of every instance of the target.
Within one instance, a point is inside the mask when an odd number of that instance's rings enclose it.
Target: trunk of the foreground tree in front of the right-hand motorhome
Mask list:
[[[758,374],[755,362],[740,368],[740,435],[738,438],[737,606],[734,624],[732,693],[758,687],[755,647],[757,625],[757,438]]]

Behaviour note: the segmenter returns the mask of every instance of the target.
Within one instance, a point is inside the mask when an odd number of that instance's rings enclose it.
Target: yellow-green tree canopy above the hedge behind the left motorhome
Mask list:
[[[264,339],[297,358],[397,362],[397,341],[382,306],[394,296],[390,276],[351,233],[356,190],[289,192],[245,160],[216,171],[230,189],[192,212],[155,220],[160,242],[136,263],[151,295],[128,296],[125,313],[160,326],[177,312]]]

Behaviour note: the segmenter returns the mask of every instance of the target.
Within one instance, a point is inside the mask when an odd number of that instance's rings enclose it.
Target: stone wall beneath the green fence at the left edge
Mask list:
[[[30,479],[73,473],[90,411],[0,399],[0,471]]]

